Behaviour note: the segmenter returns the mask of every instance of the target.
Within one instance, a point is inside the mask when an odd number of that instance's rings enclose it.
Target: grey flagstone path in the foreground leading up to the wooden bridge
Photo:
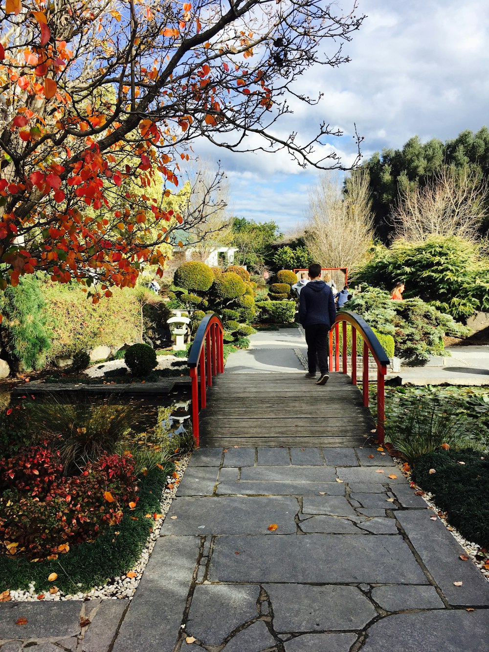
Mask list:
[[[0,652],[18,617],[35,652],[486,652],[489,583],[433,516],[375,447],[201,448],[132,602],[0,604]]]

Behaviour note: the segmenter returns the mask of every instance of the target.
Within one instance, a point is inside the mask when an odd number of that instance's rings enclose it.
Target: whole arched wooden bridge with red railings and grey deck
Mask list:
[[[348,321],[347,321],[348,320]],[[347,323],[355,342],[352,376],[339,370],[338,325],[343,321],[342,359],[347,359]],[[359,316],[338,314],[331,334],[330,372],[327,385],[304,378],[304,371],[224,371],[222,325],[207,316],[199,327],[189,355],[192,378],[192,422],[201,447],[361,445],[365,436],[383,439],[383,376],[389,364],[376,336]],[[356,333],[363,348],[363,391],[357,387]],[[369,353],[378,363],[378,428],[368,409]],[[365,355],[366,354],[366,355]],[[280,351],[276,351],[277,357]],[[213,370],[215,372],[213,373]],[[346,372],[346,365],[343,368]],[[214,375],[216,374],[216,375]]]

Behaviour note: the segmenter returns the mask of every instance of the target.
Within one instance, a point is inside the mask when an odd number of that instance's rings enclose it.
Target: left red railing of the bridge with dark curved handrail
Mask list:
[[[213,376],[224,372],[223,332],[219,316],[206,315],[200,322],[188,352],[192,379],[192,430],[196,446],[199,445],[199,409],[205,408],[207,387],[213,384]]]

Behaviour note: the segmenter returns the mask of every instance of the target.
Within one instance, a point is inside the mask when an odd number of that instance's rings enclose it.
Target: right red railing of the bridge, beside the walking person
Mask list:
[[[340,323],[342,327],[342,337],[340,341]],[[342,357],[342,373],[346,374],[348,370],[348,327],[351,329],[351,382],[357,385],[357,333],[361,334],[363,340],[363,350],[361,355],[363,357],[363,370],[362,370],[362,390],[363,390],[363,404],[368,408],[368,359],[369,355],[377,363],[377,437],[379,443],[384,440],[384,424],[385,424],[385,374],[387,373],[387,365],[389,358],[385,353],[382,345],[380,344],[376,334],[368,323],[357,315],[356,312],[350,310],[342,310],[336,315],[336,321],[333,328],[329,331],[329,368],[333,371],[340,371],[340,348]]]

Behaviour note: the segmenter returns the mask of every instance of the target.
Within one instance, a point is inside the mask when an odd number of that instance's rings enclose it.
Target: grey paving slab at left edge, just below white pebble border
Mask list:
[[[80,634],[83,602],[0,602],[0,638],[67,638]],[[16,625],[27,618],[25,625]]]

